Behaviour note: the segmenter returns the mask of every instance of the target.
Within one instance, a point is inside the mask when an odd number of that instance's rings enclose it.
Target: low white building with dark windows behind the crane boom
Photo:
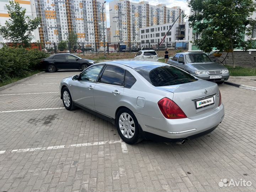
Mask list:
[[[140,28],[140,39],[142,47],[157,47],[173,23],[165,23],[150,27]],[[175,42],[188,42],[188,22],[176,22],[167,33],[164,46],[174,46]]]

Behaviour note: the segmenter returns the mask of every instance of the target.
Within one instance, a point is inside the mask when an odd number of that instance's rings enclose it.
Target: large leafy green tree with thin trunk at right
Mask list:
[[[193,15],[188,16],[190,27],[200,35],[194,44],[209,53],[216,48],[219,52],[231,50],[235,68],[234,48],[250,49],[255,20],[251,18],[256,10],[254,0],[187,0]],[[203,22],[201,22],[203,21]]]

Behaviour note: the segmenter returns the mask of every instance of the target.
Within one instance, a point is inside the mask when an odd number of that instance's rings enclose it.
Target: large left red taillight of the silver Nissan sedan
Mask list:
[[[162,114],[167,119],[182,119],[187,118],[186,114],[181,110],[181,108],[172,100],[165,97],[158,101],[158,106]]]

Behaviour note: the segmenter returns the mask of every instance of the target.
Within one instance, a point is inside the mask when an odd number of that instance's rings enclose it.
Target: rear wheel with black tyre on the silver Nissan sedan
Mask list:
[[[122,108],[116,115],[116,127],[119,136],[128,144],[139,143],[139,124],[133,112]]]

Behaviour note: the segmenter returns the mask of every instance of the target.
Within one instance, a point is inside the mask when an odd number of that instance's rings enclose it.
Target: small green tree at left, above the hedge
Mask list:
[[[20,4],[9,1],[10,5],[6,5],[10,20],[5,22],[5,26],[0,26],[0,34],[7,41],[12,43],[22,43],[28,47],[32,39],[32,32],[38,27],[39,18],[30,19],[25,16],[26,9],[21,10]]]

